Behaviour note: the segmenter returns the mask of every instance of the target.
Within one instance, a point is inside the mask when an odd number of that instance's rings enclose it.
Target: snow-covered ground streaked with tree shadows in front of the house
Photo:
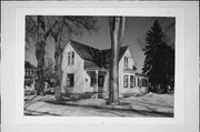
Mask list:
[[[123,98],[119,105],[107,105],[104,99],[64,99],[58,102],[53,95],[31,98],[26,97],[26,115],[173,116],[173,94]]]

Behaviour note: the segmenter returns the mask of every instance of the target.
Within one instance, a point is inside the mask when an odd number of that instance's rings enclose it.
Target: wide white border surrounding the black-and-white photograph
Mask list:
[[[69,10],[70,9],[70,10]],[[78,9],[77,11],[74,9]],[[91,10],[93,9],[93,10]],[[111,10],[113,9],[113,10]],[[64,10],[67,10],[64,12]],[[176,17],[174,118],[24,116],[23,63],[26,14]],[[107,10],[107,11],[106,11]],[[100,12],[102,11],[102,12]],[[130,12],[131,11],[131,12]],[[134,12],[136,11],[136,12]],[[98,14],[99,12],[99,14]],[[134,12],[134,13],[133,13]],[[199,2],[160,1],[2,1],[1,130],[3,132],[137,131],[198,132]],[[160,13],[160,14],[159,14]]]

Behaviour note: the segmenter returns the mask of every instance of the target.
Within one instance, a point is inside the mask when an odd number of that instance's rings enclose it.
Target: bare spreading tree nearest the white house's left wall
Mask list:
[[[57,75],[56,83],[56,100],[61,100],[61,84],[62,84],[62,51],[64,39],[71,39],[72,37],[81,37],[83,31],[97,30],[96,19],[92,17],[56,17],[54,22],[51,23],[50,18],[48,19],[52,37],[56,41],[54,44],[54,71]]]

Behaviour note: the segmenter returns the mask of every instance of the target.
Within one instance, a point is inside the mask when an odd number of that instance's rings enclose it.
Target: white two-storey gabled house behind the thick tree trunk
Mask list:
[[[62,55],[63,95],[98,93],[98,98],[108,98],[110,49],[99,50],[70,40]],[[148,90],[148,80],[137,73],[136,60],[128,45],[121,47],[119,58],[119,97],[144,94]]]

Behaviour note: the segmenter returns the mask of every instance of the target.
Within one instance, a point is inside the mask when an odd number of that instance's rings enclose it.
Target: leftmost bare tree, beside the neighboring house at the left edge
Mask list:
[[[27,16],[26,17],[26,43],[29,43],[29,38],[36,40],[36,58],[38,61],[37,67],[37,94],[44,94],[44,83],[43,83],[43,67],[44,67],[44,49],[46,41],[50,34],[50,29],[46,26],[43,16]],[[26,44],[26,49],[28,49]]]

